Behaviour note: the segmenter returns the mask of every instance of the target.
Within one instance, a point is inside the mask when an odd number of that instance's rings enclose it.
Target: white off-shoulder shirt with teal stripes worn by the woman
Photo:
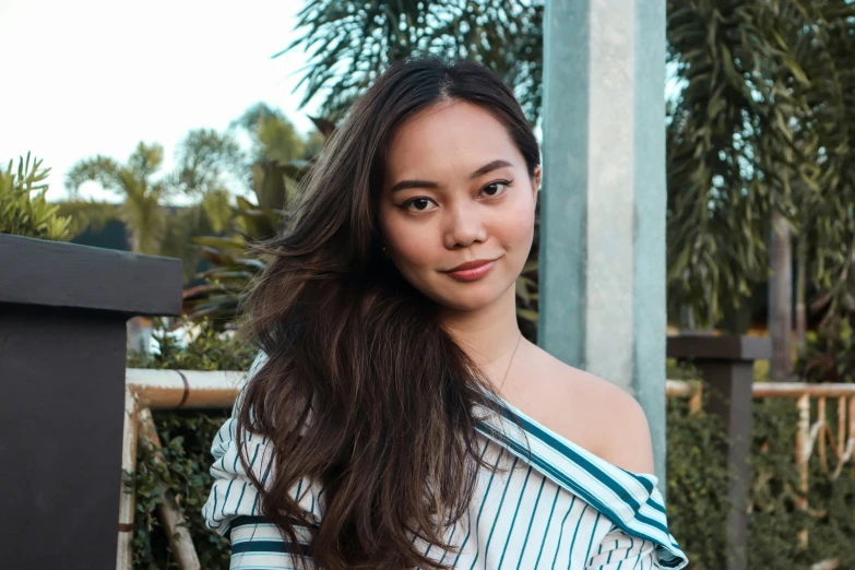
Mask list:
[[[253,369],[258,365],[257,359]],[[487,416],[477,430],[482,458],[504,467],[503,473],[479,473],[466,514],[446,533],[453,550],[414,539],[428,558],[468,570],[649,570],[688,563],[668,533],[655,476],[617,467],[510,402],[499,403],[501,416]],[[238,459],[235,421],[226,420],[212,444],[206,524],[230,539],[233,570],[293,569],[294,555],[306,551],[311,530],[297,529],[301,544],[287,544],[260,515],[258,495]],[[248,434],[246,447],[250,467],[264,484],[271,477],[272,446]],[[324,511],[320,485],[304,478],[292,492],[312,525],[319,525]]]

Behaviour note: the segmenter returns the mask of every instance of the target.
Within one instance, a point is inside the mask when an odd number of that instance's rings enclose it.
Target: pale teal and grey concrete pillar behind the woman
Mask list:
[[[547,0],[541,345],[632,393],[665,475],[665,2]]]

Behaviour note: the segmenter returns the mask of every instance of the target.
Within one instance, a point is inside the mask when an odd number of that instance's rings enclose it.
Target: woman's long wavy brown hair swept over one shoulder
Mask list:
[[[497,412],[489,380],[437,320],[437,306],[381,252],[384,150],[408,117],[443,100],[489,110],[530,177],[539,149],[512,91],[472,61],[395,62],[328,141],[244,305],[241,336],[268,359],[245,388],[237,440],[274,446],[261,512],[292,542],[308,525],[288,489],[320,482],[325,508],[309,554],[318,568],[449,568],[414,535],[450,549],[443,530],[472,501],[479,467],[474,409]],[[251,413],[250,413],[251,411]],[[301,559],[302,562],[305,560]]]

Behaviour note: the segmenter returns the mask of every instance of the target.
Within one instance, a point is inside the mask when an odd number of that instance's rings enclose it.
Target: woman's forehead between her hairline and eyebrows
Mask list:
[[[443,102],[404,121],[387,151],[387,179],[406,174],[466,175],[497,158],[522,163],[504,124],[488,110],[467,102]],[[426,171],[427,170],[427,171]]]

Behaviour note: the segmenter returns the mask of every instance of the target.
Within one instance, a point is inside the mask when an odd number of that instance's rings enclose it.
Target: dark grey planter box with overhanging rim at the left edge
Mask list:
[[[2,568],[116,568],[126,321],[180,310],[179,260],[0,235]]]

